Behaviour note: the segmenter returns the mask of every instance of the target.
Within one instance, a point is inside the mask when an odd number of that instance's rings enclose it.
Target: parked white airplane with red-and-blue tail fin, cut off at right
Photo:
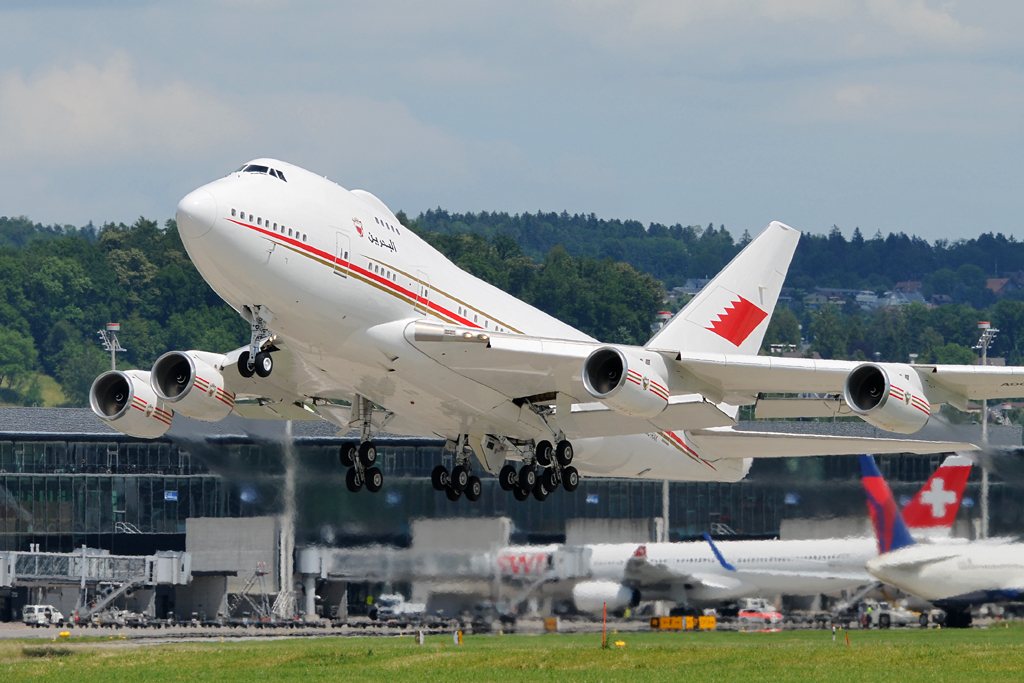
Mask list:
[[[975,541],[918,544],[910,537],[874,460],[861,457],[868,508],[882,552],[867,562],[879,581],[946,611],[946,625],[971,626],[971,607],[1024,594],[1024,544]]]

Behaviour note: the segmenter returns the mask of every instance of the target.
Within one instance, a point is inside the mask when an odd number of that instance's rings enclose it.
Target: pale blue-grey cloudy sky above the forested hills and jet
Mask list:
[[[273,157],[393,211],[1024,239],[1024,3],[3,0],[0,215]]]

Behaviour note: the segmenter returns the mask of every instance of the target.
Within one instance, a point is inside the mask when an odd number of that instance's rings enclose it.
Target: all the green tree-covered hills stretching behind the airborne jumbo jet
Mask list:
[[[603,341],[642,344],[666,288],[714,275],[750,240],[724,226],[671,227],[568,214],[449,214],[399,219],[457,265]],[[847,240],[805,234],[765,339],[810,344],[822,357],[970,362],[977,321],[1001,329],[991,354],[1024,362],[1024,292],[996,297],[993,273],[1024,269],[1024,245],[986,233],[934,244],[905,234]],[[919,279],[939,307],[860,308],[852,298],[812,310],[815,286],[884,291]],[[0,217],[0,401],[41,404],[41,380],[84,405],[110,356],[95,334],[122,324],[119,367],[148,368],[169,349],[227,351],[248,340],[245,323],[207,286],[173,220],[84,227]]]

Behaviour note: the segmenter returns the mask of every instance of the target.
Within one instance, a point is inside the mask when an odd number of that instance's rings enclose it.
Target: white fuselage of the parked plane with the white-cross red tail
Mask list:
[[[878,555],[878,545],[870,538],[722,541],[715,545],[734,571],[726,569],[705,542],[645,544],[646,563],[675,578],[634,587],[644,599],[677,602],[818,595],[870,583],[864,564]],[[627,564],[638,547],[635,543],[593,546],[592,578],[631,585]]]

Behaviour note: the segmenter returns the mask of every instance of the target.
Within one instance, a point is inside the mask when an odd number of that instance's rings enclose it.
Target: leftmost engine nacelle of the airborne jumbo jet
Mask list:
[[[163,435],[174,417],[153,391],[150,373],[143,370],[103,373],[92,381],[89,403],[100,420],[138,438]]]

